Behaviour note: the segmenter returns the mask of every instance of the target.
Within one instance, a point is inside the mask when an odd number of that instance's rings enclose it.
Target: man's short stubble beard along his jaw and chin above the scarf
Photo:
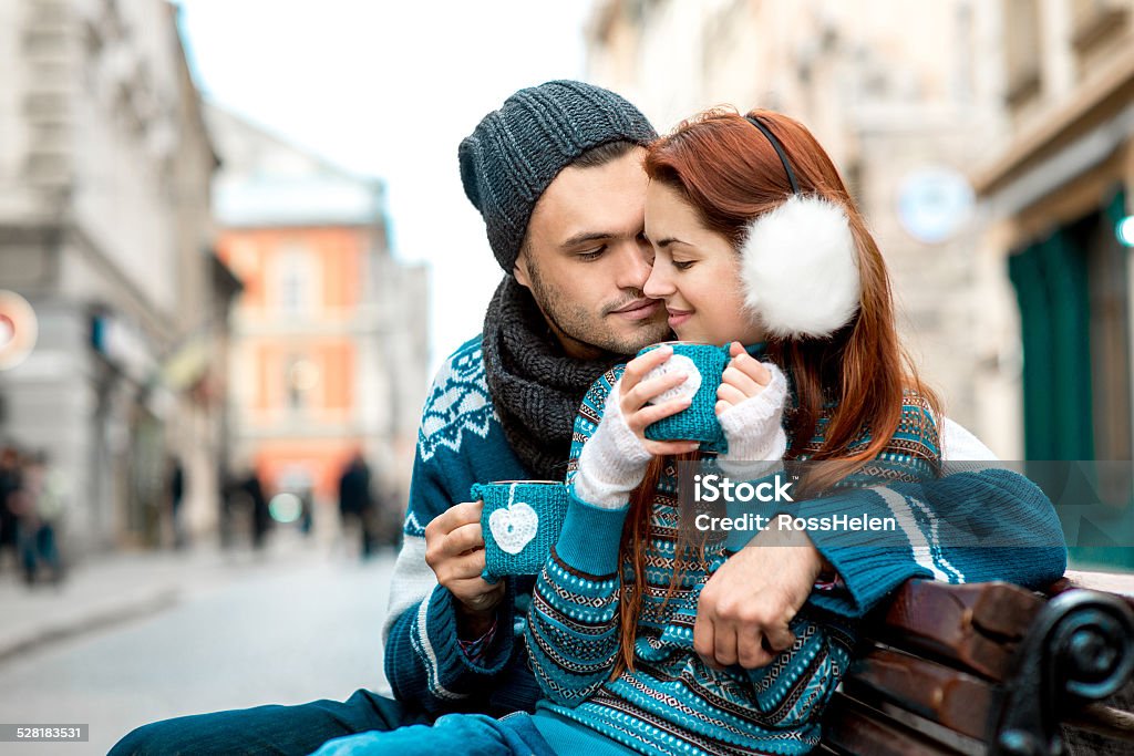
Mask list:
[[[559,289],[549,286],[531,260],[527,261],[527,275],[532,284],[532,297],[552,329],[561,338],[570,339],[584,348],[634,355],[643,347],[663,341],[670,335],[666,321],[641,321],[633,332],[626,334],[616,332],[608,324],[607,317],[611,313],[645,296],[638,289],[628,291],[621,301],[603,306],[602,312],[596,315],[572,303]]]

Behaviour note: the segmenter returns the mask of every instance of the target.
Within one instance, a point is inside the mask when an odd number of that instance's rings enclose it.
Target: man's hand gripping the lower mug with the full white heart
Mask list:
[[[492,627],[496,606],[503,598],[505,584],[481,578],[484,569],[484,535],[481,532],[482,501],[450,507],[425,526],[425,563],[437,581],[457,600],[458,634],[475,639]]]

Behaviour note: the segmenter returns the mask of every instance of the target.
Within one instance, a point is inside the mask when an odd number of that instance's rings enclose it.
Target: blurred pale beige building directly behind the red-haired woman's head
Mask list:
[[[782,111],[830,152],[887,258],[905,343],[950,417],[1018,455],[1014,297],[966,171],[1006,137],[999,11],[975,0],[602,0],[590,78],[666,131],[705,108]]]

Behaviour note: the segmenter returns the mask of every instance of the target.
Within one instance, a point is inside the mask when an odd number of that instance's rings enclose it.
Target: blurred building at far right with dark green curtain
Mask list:
[[[973,171],[985,247],[1009,272],[1027,459],[1131,460],[1134,2],[1013,0],[1002,12],[1009,139]],[[1124,223],[1125,221],[1125,223]],[[1125,244],[1124,244],[1125,241]],[[1107,482],[1072,557],[1134,566],[1131,482]],[[1109,490],[1109,491],[1108,491]]]

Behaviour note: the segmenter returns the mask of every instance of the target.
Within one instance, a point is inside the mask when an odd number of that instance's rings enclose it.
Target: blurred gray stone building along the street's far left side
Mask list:
[[[215,519],[236,281],[211,252],[217,167],[162,0],[0,0],[0,289],[39,340],[0,372],[0,439],[69,483],[71,551]]]

